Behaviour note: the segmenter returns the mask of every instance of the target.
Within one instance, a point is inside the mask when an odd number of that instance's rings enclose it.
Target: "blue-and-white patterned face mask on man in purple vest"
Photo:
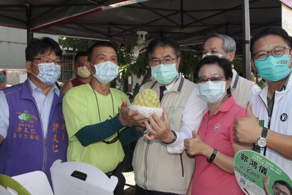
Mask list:
[[[36,65],[33,62],[31,63]],[[39,67],[39,74],[37,76],[33,74],[33,72],[31,72],[31,74],[36,76],[39,80],[41,80],[43,83],[46,83],[47,85],[53,85],[56,83],[61,75],[61,66],[54,64],[54,62],[38,64],[36,66]]]

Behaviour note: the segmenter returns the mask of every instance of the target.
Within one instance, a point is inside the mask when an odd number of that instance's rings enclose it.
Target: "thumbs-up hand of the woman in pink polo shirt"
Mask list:
[[[204,154],[210,146],[201,140],[201,138],[196,134],[195,130],[193,130],[192,134],[193,138],[183,140],[186,152],[189,155]]]

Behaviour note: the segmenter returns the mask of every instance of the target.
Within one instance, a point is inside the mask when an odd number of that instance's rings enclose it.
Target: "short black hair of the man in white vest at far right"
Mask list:
[[[250,52],[253,55],[253,47],[255,44],[255,41],[258,41],[259,39],[266,37],[268,35],[278,35],[284,39],[284,41],[291,47],[290,37],[288,33],[281,27],[262,27],[258,29],[252,39],[250,40]]]

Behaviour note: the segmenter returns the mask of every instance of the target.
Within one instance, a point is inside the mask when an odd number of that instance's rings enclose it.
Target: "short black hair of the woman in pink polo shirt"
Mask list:
[[[232,62],[230,62],[228,59],[225,59],[225,58],[219,58],[216,55],[209,55],[209,56],[206,56],[205,58],[203,58],[200,62],[198,62],[197,66],[196,66],[195,74],[194,74],[194,80],[196,83],[198,83],[200,69],[204,65],[207,65],[207,64],[208,65],[216,64],[221,69],[223,69],[225,80],[232,78],[232,76],[233,76],[232,67],[231,67]],[[227,89],[227,94],[229,96],[231,95],[230,87],[229,87],[229,89]]]

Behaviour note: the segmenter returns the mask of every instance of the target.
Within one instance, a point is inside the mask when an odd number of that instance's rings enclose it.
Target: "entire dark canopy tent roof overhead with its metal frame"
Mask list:
[[[200,51],[206,35],[217,32],[235,39],[244,66],[248,24],[251,35],[262,26],[280,26],[281,1],[0,0],[0,25],[27,29],[28,40],[38,32],[135,44],[136,31],[143,30],[148,39],[170,37],[183,49]],[[250,66],[244,76],[250,78]]]

